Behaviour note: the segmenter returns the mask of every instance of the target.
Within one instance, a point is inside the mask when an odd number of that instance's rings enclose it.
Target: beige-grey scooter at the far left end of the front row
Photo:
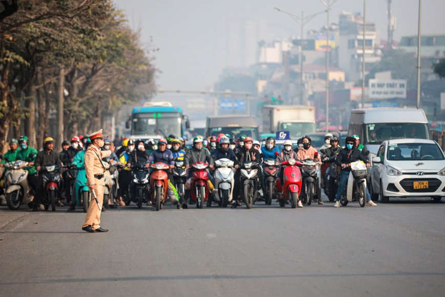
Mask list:
[[[16,161],[10,164],[6,173],[6,204],[11,210],[17,210],[21,204],[29,204],[34,199],[28,185],[27,166],[28,162]]]

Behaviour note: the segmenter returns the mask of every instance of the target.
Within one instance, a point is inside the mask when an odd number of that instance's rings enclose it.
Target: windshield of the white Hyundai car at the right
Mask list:
[[[430,143],[390,144],[387,158],[391,161],[444,160],[439,146]]]

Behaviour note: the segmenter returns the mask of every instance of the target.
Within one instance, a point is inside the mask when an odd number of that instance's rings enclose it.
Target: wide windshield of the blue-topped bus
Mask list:
[[[182,135],[182,116],[179,112],[134,113],[133,135]]]

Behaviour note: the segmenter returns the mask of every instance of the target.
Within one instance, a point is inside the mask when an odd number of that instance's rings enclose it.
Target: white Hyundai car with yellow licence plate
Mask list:
[[[372,159],[371,193],[387,203],[389,197],[445,196],[445,155],[432,140],[384,141]]]

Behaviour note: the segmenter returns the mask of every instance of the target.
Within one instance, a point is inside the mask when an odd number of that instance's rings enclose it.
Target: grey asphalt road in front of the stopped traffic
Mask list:
[[[445,203],[102,215],[0,207],[2,296],[439,296]]]

